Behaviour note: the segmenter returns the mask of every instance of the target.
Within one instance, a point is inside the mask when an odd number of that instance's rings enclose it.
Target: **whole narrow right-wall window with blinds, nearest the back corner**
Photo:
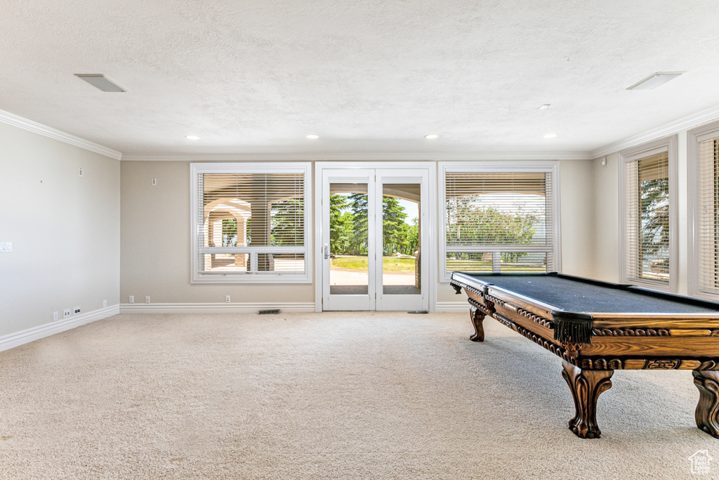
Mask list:
[[[672,137],[620,153],[625,283],[676,291],[675,145]]]

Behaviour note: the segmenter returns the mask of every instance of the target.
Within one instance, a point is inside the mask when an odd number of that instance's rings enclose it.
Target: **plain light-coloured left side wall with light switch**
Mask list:
[[[0,335],[118,304],[120,162],[9,124],[0,145]]]

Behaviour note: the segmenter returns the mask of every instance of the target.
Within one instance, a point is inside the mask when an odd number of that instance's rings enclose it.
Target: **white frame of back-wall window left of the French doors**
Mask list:
[[[311,170],[309,162],[273,162],[273,163],[191,163],[190,164],[190,216],[191,216],[191,284],[311,284],[312,283],[312,248],[313,238],[311,237],[312,221],[312,198],[311,198]],[[201,229],[199,225],[199,175],[204,173],[301,173],[304,178],[304,243],[302,245],[304,255],[304,273],[253,273],[253,272],[232,272],[224,274],[207,274],[199,270],[199,256],[201,247],[198,245],[198,237]],[[236,247],[219,248],[214,250],[217,253],[235,253]],[[243,247],[243,250],[250,250],[252,247]],[[275,247],[282,250],[283,247]],[[286,247],[285,247],[286,249]],[[226,250],[226,251],[224,251]],[[232,252],[229,250],[233,250]]]

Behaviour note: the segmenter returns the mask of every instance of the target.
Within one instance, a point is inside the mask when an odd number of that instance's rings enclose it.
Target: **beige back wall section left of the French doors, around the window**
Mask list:
[[[311,302],[312,284],[190,284],[190,163],[122,162],[120,298],[144,303]],[[157,178],[157,186],[152,186]]]

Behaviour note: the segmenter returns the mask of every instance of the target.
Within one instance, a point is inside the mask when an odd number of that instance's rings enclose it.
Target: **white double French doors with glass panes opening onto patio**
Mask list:
[[[428,309],[428,185],[429,168],[321,169],[322,309]]]

